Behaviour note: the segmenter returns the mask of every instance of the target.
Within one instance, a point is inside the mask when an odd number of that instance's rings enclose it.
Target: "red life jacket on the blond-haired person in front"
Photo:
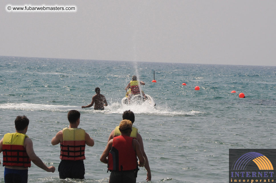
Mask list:
[[[138,163],[132,140],[132,137],[126,135],[113,138],[112,148],[108,154],[109,171],[136,170]]]

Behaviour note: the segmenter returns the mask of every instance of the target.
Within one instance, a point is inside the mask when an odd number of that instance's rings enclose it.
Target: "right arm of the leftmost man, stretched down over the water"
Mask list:
[[[28,137],[25,138],[24,147],[26,148],[28,157],[31,159],[31,161],[34,163],[34,165],[38,166],[39,168],[42,168],[43,170],[45,170],[47,172],[54,172],[56,170],[56,168],[54,166],[47,167],[41,161],[41,159],[38,156],[36,156],[36,154],[34,153],[34,149],[33,149],[33,141],[30,138],[28,138]]]

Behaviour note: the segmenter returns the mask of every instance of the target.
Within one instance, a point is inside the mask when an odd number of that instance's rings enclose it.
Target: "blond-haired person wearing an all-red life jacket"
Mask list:
[[[140,149],[139,142],[130,137],[132,123],[130,120],[122,120],[119,125],[120,136],[108,141],[100,161],[108,164],[111,171],[110,183],[135,183],[139,166],[145,165],[145,158]],[[108,156],[108,159],[107,159]]]

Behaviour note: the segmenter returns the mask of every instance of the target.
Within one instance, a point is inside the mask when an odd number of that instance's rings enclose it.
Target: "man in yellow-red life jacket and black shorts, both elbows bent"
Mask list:
[[[67,117],[70,124],[69,128],[60,130],[51,141],[52,145],[60,143],[59,178],[84,179],[85,145],[94,146],[94,140],[84,129],[78,128],[80,112],[70,110]]]

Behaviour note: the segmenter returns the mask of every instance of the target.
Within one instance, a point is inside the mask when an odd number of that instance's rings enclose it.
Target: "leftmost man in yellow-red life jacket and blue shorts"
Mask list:
[[[34,153],[33,141],[26,135],[29,119],[26,116],[17,116],[14,122],[15,133],[6,133],[0,141],[5,182],[28,182],[28,168],[31,167],[31,161],[47,172],[54,172],[56,169],[54,166],[47,167]]]

